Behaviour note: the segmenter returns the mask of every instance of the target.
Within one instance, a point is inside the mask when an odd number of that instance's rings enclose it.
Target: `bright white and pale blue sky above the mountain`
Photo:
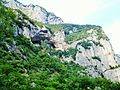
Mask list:
[[[120,54],[120,0],[18,0],[40,5],[65,23],[94,24],[103,27],[115,53]]]

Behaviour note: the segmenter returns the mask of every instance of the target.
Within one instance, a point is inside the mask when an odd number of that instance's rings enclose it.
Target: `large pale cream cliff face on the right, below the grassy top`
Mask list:
[[[107,38],[99,38],[96,30],[88,30],[90,35],[71,44],[77,48],[75,63],[86,67],[92,77],[105,77],[120,81],[120,68],[114,57],[112,46]],[[99,33],[105,36],[103,32]]]

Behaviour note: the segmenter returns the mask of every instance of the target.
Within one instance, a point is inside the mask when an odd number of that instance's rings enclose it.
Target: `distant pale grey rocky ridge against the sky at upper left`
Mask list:
[[[6,0],[7,1],[7,0]],[[24,14],[29,16],[29,18],[49,24],[60,24],[63,23],[63,20],[60,17],[55,16],[54,13],[47,12],[44,8],[38,5],[23,5],[22,3],[18,2],[17,0],[9,0],[5,4],[7,7],[13,9],[19,9]]]

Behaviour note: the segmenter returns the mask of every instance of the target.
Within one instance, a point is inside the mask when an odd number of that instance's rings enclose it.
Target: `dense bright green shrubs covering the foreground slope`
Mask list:
[[[14,25],[15,13],[0,3],[0,90],[120,89],[120,83],[89,77],[79,65],[61,62],[49,54],[54,49],[35,47],[23,35],[15,37]]]

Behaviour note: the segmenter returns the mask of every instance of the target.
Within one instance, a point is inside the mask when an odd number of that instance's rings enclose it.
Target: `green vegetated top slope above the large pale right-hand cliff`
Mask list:
[[[108,40],[108,37],[104,34],[104,32],[102,31],[102,28],[100,26],[78,25],[78,27],[76,26],[76,27],[68,29],[68,30],[69,30],[69,32],[67,31],[67,35],[65,37],[65,42],[67,42],[68,44],[71,44],[74,41],[92,37],[94,35],[94,33],[96,34],[96,37],[98,40],[100,40],[100,39]],[[88,31],[90,31],[90,30],[93,30],[93,31],[89,33]]]

